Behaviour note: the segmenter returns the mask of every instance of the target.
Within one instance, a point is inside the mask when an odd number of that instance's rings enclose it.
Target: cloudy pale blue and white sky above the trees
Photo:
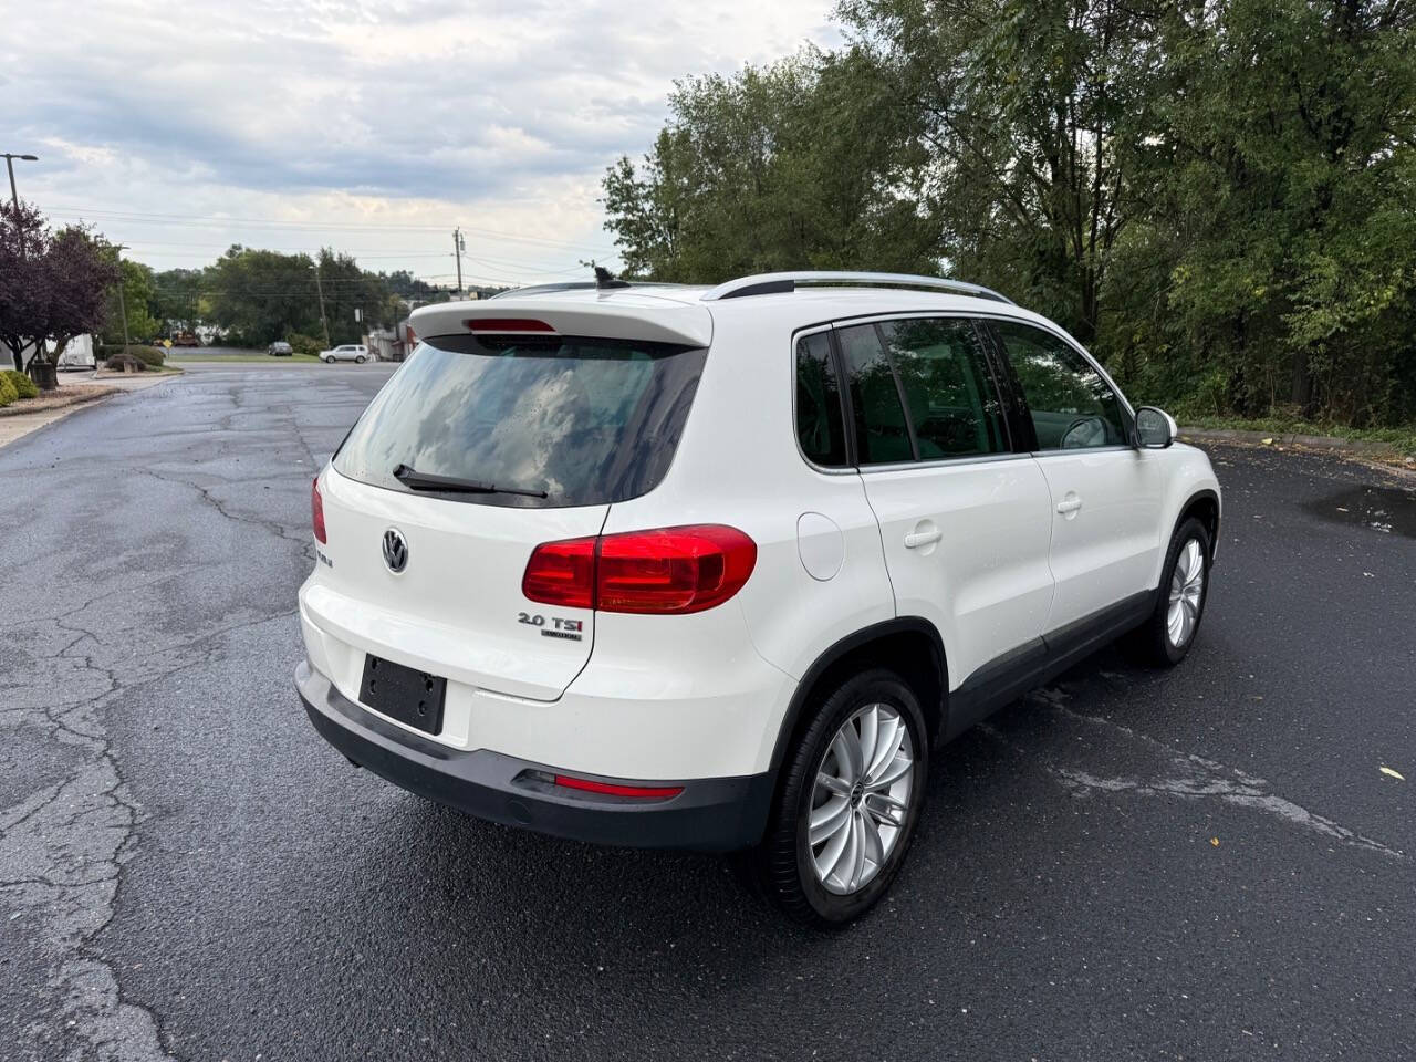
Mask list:
[[[840,37],[834,0],[0,0],[0,152],[154,269],[329,245],[455,283],[617,263],[600,177],[685,75]],[[8,191],[8,188],[6,188]]]

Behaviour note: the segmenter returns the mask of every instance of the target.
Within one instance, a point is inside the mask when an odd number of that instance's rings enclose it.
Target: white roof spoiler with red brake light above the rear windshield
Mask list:
[[[617,289],[613,297],[588,299],[579,293],[538,295],[517,299],[438,303],[413,310],[409,327],[423,337],[476,334],[559,334],[596,338],[643,340],[707,347],[712,341],[712,314],[707,307],[674,299],[656,299]]]

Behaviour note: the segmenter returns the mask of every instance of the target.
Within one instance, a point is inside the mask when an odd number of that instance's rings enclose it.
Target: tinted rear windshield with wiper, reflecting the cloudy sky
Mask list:
[[[406,466],[545,493],[419,491],[484,506],[624,501],[668,469],[705,355],[566,336],[423,340],[364,411],[334,467],[389,490],[409,490],[394,476]]]

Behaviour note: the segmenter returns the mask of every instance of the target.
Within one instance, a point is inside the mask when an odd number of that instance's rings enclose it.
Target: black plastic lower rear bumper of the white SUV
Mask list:
[[[344,697],[309,661],[295,668],[295,685],[314,729],[351,760],[411,793],[477,818],[632,848],[722,852],[762,840],[772,801],[770,773],[690,780],[595,779],[683,786],[677,796],[656,801],[566,790],[542,780],[544,775],[554,776],[555,767],[490,749],[450,749],[394,726]]]

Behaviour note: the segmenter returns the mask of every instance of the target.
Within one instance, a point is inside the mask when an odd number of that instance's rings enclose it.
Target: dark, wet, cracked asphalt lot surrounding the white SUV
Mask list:
[[[1409,480],[1215,447],[1189,660],[939,753],[891,898],[820,935],[310,729],[309,481],[385,375],[193,368],[0,450],[6,1062],[1416,1055]]]

